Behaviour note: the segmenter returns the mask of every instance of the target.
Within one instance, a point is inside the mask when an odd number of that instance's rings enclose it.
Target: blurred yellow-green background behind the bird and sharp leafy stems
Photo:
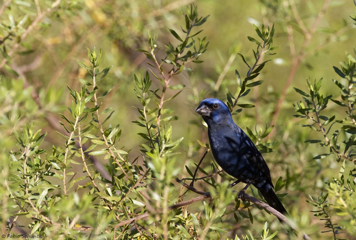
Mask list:
[[[272,51],[275,55],[263,55],[263,60],[271,61],[257,80],[265,82],[240,102],[256,107],[244,109],[234,120],[243,130],[248,127],[258,131],[260,127],[274,125],[273,132],[264,140],[275,142],[274,152],[265,155],[273,172],[272,180],[276,182],[279,176],[286,175],[293,179],[281,192],[289,193],[284,201],[290,203],[291,216],[309,228],[318,218],[309,212],[313,208],[304,200],[308,194],[318,196],[324,182],[337,176],[340,165],[332,156],[313,159],[322,153],[322,148],[304,143],[315,136],[310,135],[310,129],[296,126],[301,122],[293,117],[293,103],[302,98],[293,87],[306,91],[306,79],[314,82],[323,78],[321,89],[325,95],[340,95],[340,89],[332,81],[340,80],[333,66],[347,61],[345,52],[354,54],[356,28],[350,15],[355,14],[356,7],[351,0],[1,0],[2,158],[16,148],[11,133],[26,122],[48,132],[44,149],[63,143],[56,131],[61,131],[58,113],[69,115],[67,106],[72,102],[66,85],[80,89],[77,78],[90,79],[77,60],[89,65],[86,48],[94,47],[103,50],[101,66],[113,65],[100,82],[102,89],[112,89],[103,100],[103,109],[115,110],[111,124],[120,124],[122,129],[120,147],[132,149],[130,158],[140,157],[139,145],[145,140],[137,135],[142,128],[132,123],[139,115],[134,107],[141,105],[133,92],[133,75],[144,75],[149,65],[146,56],[135,49],[148,50],[149,32],[157,34],[157,45],[162,47],[163,55],[164,45],[177,42],[168,28],[182,34],[180,26],[185,24],[182,9],[191,3],[198,6],[200,16],[210,15],[199,27],[203,30],[199,37],[206,36],[210,43],[199,58],[203,63],[189,63],[193,72],[174,76],[171,84],[184,84],[185,88],[166,105],[180,117],[172,122],[172,127],[174,139],[184,137],[179,156],[182,160],[177,162],[182,164],[177,166],[182,168],[182,178],[189,176],[184,164],[193,167],[204,153],[196,140],[208,142],[196,107],[204,98],[226,102],[224,86],[232,94],[239,91],[235,70],[243,78],[248,67],[237,53],[253,64],[255,44],[247,39],[247,36],[258,38],[253,24],[258,27],[274,24],[273,45],[280,47]],[[152,89],[161,86],[158,81],[152,84],[155,86]],[[173,96],[176,92],[167,94]],[[336,104],[329,111],[345,112]],[[17,114],[20,112],[21,117]],[[209,161],[211,156],[205,158],[203,165]],[[346,168],[351,170],[352,164],[347,163]],[[314,228],[316,232],[321,231],[319,227]],[[234,233],[238,233],[236,229]]]

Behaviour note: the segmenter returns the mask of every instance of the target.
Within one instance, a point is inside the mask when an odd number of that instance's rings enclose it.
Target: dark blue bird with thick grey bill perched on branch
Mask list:
[[[216,162],[229,175],[237,178],[231,186],[239,182],[252,184],[262,193],[267,203],[280,213],[287,213],[279,201],[271,180],[271,174],[255,144],[232,120],[229,108],[219,99],[207,98],[196,110],[208,124],[211,151]]]

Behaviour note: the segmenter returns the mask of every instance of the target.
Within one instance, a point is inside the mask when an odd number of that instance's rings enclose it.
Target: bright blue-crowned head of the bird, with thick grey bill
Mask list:
[[[229,108],[224,102],[216,98],[204,99],[195,111],[203,117],[208,125],[232,121]]]

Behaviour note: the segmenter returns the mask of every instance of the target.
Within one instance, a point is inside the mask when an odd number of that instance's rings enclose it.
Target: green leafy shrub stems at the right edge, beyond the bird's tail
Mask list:
[[[331,222],[331,216],[326,209],[333,206],[334,209],[337,209],[337,214],[345,216],[344,222],[347,223],[348,227],[351,228],[350,231],[354,232],[352,225],[356,222],[356,217],[354,214],[355,211],[355,183],[356,175],[355,168],[349,172],[347,175],[347,180],[345,182],[344,171],[345,171],[345,162],[350,162],[353,167],[355,167],[355,129],[356,121],[354,115],[354,105],[356,103],[355,98],[355,89],[354,82],[356,80],[356,51],[355,56],[346,54],[347,61],[341,62],[341,69],[334,66],[334,70],[344,81],[344,84],[341,81],[333,79],[336,87],[339,88],[340,96],[336,97],[333,95],[324,96],[321,93],[322,78],[319,81],[314,81],[314,84],[307,80],[307,86],[309,92],[304,92],[298,88],[294,88],[297,93],[303,96],[304,103],[300,102],[294,104],[296,111],[301,115],[294,115],[297,118],[304,118],[311,121],[310,124],[298,124],[302,127],[309,127],[310,129],[316,131],[322,139],[311,139],[305,142],[314,144],[318,143],[321,147],[326,147],[329,149],[327,152],[319,154],[314,157],[314,159],[323,159],[328,156],[333,156],[336,162],[340,162],[343,159],[339,171],[339,178],[334,178],[333,181],[328,181],[326,184],[329,186],[326,195],[323,196],[323,193],[320,193],[318,201],[314,201],[312,196],[309,197],[311,201],[307,201],[315,207],[318,207],[320,210],[312,211],[316,212],[314,216],[324,216],[325,227],[331,228],[331,230],[322,231],[326,233],[332,231],[334,234],[334,239],[336,234],[340,234],[339,229],[345,229],[345,226],[337,226]],[[341,98],[341,99],[340,99]],[[338,100],[340,99],[340,100]],[[345,108],[346,111],[344,116],[341,114],[334,114],[333,111],[328,111],[330,108],[329,100],[339,105],[342,108]],[[328,111],[328,112],[327,112]],[[332,115],[332,116],[330,116]],[[337,118],[336,118],[337,116]],[[336,156],[334,156],[334,154]],[[327,202],[328,196],[330,198],[335,198],[335,204],[325,204]],[[347,217],[346,217],[347,216]]]

